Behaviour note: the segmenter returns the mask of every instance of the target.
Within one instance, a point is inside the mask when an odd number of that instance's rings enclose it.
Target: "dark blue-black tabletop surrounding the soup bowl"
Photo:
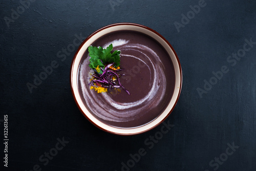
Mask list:
[[[25,1],[25,0],[24,0]],[[32,0],[31,0],[32,1]],[[113,0],[117,3],[117,0]],[[8,115],[7,170],[122,170],[130,154],[146,150],[130,170],[256,170],[256,45],[237,60],[228,56],[243,49],[245,39],[256,41],[256,1],[205,0],[205,7],[189,23],[176,29],[181,14],[193,1],[19,1],[0,5],[0,127]],[[19,16],[13,11],[19,9]],[[13,11],[12,11],[13,9]],[[23,11],[24,9],[24,11]],[[7,20],[7,23],[5,19]],[[79,112],[70,89],[73,50],[63,61],[58,51],[67,49],[75,34],[84,38],[97,29],[121,22],[150,27],[172,44],[181,62],[183,85],[173,113],[166,122],[172,129],[150,149],[144,143],[161,126],[136,136],[105,133]],[[250,46],[247,46],[250,48]],[[242,52],[242,51],[240,51]],[[27,83],[42,67],[56,60],[58,67],[30,93]],[[228,73],[199,96],[212,72]],[[69,141],[45,162],[39,157],[55,147],[57,138]],[[239,148],[225,159],[228,143]],[[224,157],[224,162],[211,160]],[[1,160],[4,157],[3,140]],[[217,164],[216,164],[217,163]],[[130,164],[130,165],[131,165]],[[1,161],[1,167],[4,163]],[[217,168],[218,166],[218,168]],[[123,168],[123,170],[129,170]]]

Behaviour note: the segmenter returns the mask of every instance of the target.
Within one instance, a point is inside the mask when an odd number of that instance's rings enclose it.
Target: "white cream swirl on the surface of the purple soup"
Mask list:
[[[150,74],[150,82],[148,82],[150,91],[139,100],[132,102],[118,102],[110,93],[98,94],[94,90],[90,90],[90,87],[88,86],[88,83],[90,82],[90,74],[88,73],[90,57],[88,55],[81,63],[79,69],[82,95],[87,108],[95,116],[112,122],[127,122],[139,117],[142,111],[150,111],[161,103],[166,90],[165,68],[157,53],[147,46],[131,44],[129,40],[125,39],[116,39],[103,47],[107,47],[110,44],[113,44],[114,50],[121,51],[121,67],[123,64],[122,58],[124,57],[136,59],[146,66],[146,69],[149,70],[148,74]],[[136,54],[139,53],[140,55],[135,56],[131,53],[127,53],[132,51],[136,52]],[[136,77],[133,79],[136,79]],[[129,90],[129,87],[125,88]],[[132,91],[129,91],[131,96],[133,96]]]

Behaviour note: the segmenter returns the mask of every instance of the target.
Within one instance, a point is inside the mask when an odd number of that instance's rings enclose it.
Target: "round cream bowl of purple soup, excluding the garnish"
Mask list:
[[[124,89],[98,93],[88,85],[90,46],[120,54],[120,83]],[[88,36],[76,51],[70,72],[74,100],[99,129],[117,135],[136,135],[152,130],[174,110],[180,96],[182,71],[169,42],[155,30],[133,23],[117,23]]]

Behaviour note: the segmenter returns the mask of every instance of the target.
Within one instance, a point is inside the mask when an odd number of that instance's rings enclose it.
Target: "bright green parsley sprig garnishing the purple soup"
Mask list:
[[[111,54],[111,51],[113,50],[113,45],[111,44],[106,49],[103,49],[102,47],[92,47],[90,46],[88,48],[89,56],[91,57],[89,67],[91,69],[97,69],[105,67],[105,65],[108,65],[109,63],[114,63],[114,67],[118,67],[120,65],[120,51],[114,51]],[[102,74],[102,70],[98,71]]]

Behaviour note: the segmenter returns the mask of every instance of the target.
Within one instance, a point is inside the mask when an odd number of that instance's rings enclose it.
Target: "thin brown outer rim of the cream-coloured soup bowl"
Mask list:
[[[77,57],[77,54],[78,52],[80,51],[81,47],[85,44],[86,41],[88,41],[93,35],[95,35],[96,33],[104,30],[104,29],[107,29],[107,28],[111,28],[111,27],[115,27],[115,26],[122,26],[122,25],[129,25],[129,26],[137,26],[137,27],[141,27],[141,28],[144,28],[144,29],[147,29],[147,30],[150,30],[152,31],[153,33],[157,34],[159,37],[161,37],[166,43],[167,45],[173,50],[175,56],[176,56],[176,59],[179,63],[179,69],[180,69],[180,78],[181,78],[181,81],[180,81],[180,86],[179,86],[179,94],[178,94],[178,97],[174,103],[174,106],[172,108],[172,110],[170,110],[170,112],[166,115],[166,117],[164,117],[158,124],[154,125],[153,127],[151,127],[150,129],[147,129],[147,130],[144,130],[144,131],[141,131],[141,132],[138,132],[138,133],[134,133],[134,134],[121,134],[121,133],[115,133],[115,132],[112,132],[112,131],[109,131],[109,130],[105,130],[103,129],[102,127],[100,127],[99,125],[97,125],[96,123],[94,123],[83,111],[82,109],[80,108],[80,105],[78,104],[77,100],[76,100],[76,97],[75,97],[75,93],[74,93],[74,89],[73,89],[73,83],[72,83],[72,73],[73,73],[73,66],[74,66],[74,61]],[[149,27],[146,27],[146,26],[143,26],[143,25],[140,25],[140,24],[135,24],[135,23],[115,23],[115,24],[111,24],[111,25],[108,25],[108,26],[105,26],[105,27],[102,27],[98,30],[96,30],[95,32],[93,32],[91,35],[89,35],[86,39],[83,40],[83,42],[81,43],[81,45],[78,47],[73,59],[72,59],[72,63],[71,63],[71,68],[70,68],[70,87],[71,87],[71,91],[72,91],[72,95],[73,95],[73,98],[76,102],[76,105],[78,106],[78,109],[80,110],[80,112],[83,114],[84,117],[86,117],[93,125],[95,125],[96,127],[98,127],[100,130],[103,130],[105,132],[108,132],[108,133],[111,133],[111,134],[115,134],[115,135],[123,135],[123,136],[128,136],[128,135],[138,135],[138,134],[142,134],[144,132],[147,132],[147,131],[150,131],[152,129],[154,129],[155,127],[157,127],[158,125],[160,125],[169,115],[170,113],[173,112],[177,102],[178,102],[178,99],[180,97],[180,93],[181,93],[181,87],[182,87],[182,70],[181,70],[181,65],[180,65],[180,60],[178,58],[178,55],[176,54],[174,48],[172,47],[172,45],[170,45],[170,43],[161,35],[159,34],[157,31],[149,28]]]

